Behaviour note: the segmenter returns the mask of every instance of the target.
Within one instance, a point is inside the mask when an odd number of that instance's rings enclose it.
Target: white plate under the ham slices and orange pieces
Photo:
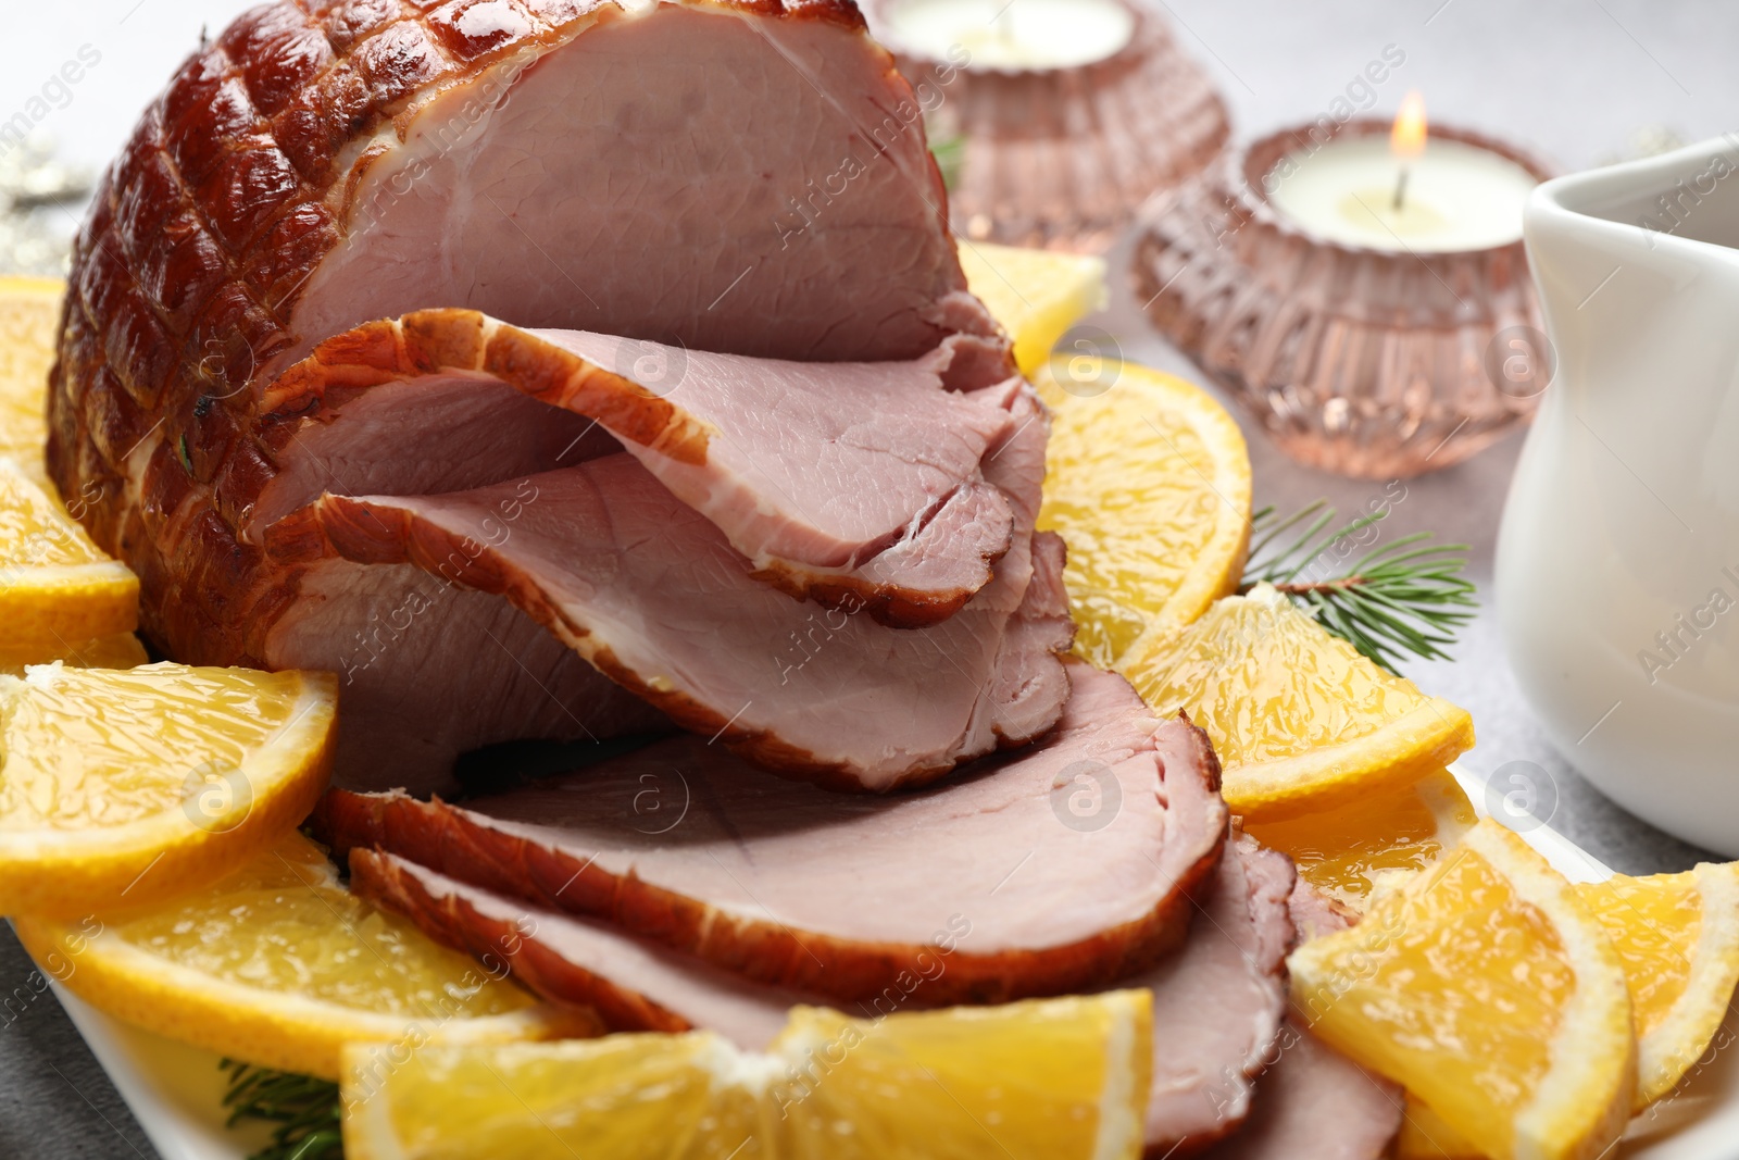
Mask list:
[[[1464,769],[1456,777],[1475,803],[1485,800],[1478,777]],[[1523,837],[1572,882],[1612,875],[1549,826]],[[110,1019],[59,984],[54,990],[163,1160],[243,1160],[266,1141],[264,1127],[224,1129],[217,1056]],[[1739,1052],[1729,1050],[1736,1042],[1739,1005],[1727,1010],[1727,1021],[1685,1083],[1631,1122],[1612,1160],[1739,1158]]]

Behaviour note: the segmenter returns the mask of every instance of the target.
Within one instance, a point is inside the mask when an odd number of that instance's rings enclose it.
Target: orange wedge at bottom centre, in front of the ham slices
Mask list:
[[[350,1160],[1134,1160],[1151,993],[710,1031],[344,1052]]]

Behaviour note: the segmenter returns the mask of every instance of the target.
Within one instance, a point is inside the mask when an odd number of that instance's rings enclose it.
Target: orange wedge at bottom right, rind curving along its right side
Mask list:
[[[1289,967],[1316,1035],[1494,1160],[1595,1160],[1624,1130],[1636,1040],[1619,955],[1490,819]]]

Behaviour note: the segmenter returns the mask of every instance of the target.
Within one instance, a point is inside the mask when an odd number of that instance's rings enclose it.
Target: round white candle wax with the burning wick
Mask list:
[[[1433,137],[1407,165],[1389,137],[1344,137],[1299,150],[1268,176],[1268,202],[1329,242],[1377,250],[1485,250],[1522,237],[1522,207],[1537,181],[1490,150]]]

